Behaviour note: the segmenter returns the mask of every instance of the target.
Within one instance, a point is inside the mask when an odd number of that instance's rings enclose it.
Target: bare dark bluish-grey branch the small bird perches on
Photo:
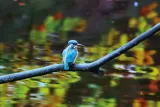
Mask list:
[[[99,71],[100,66],[118,57],[119,55],[125,53],[132,47],[138,45],[143,40],[149,38],[150,36],[153,36],[156,32],[158,32],[158,30],[160,30],[160,24],[155,25],[148,31],[134,38],[133,40],[121,46],[120,48],[116,49],[115,51],[98,59],[97,61],[94,61],[92,63],[85,63],[85,64],[75,64],[69,71],[97,72]],[[39,69],[33,69],[33,70],[3,75],[3,76],[0,76],[0,83],[7,83],[11,81],[22,80],[22,79],[31,78],[35,76],[41,76],[41,75],[49,74],[52,72],[58,72],[58,71],[64,71],[63,64],[54,64],[54,65],[46,66],[46,67],[39,68]]]

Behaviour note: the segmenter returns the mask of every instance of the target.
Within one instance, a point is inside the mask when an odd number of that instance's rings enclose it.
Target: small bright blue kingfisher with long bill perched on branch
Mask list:
[[[68,46],[63,50],[62,57],[63,57],[63,64],[64,70],[69,70],[69,68],[74,64],[77,56],[78,56],[78,47],[84,46],[79,44],[76,40],[69,40]]]

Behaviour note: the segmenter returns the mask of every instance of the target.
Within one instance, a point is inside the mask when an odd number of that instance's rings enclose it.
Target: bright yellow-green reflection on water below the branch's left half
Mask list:
[[[0,85],[2,107],[62,106],[70,84],[80,80],[76,72],[55,73]],[[39,105],[39,106],[38,106]]]

